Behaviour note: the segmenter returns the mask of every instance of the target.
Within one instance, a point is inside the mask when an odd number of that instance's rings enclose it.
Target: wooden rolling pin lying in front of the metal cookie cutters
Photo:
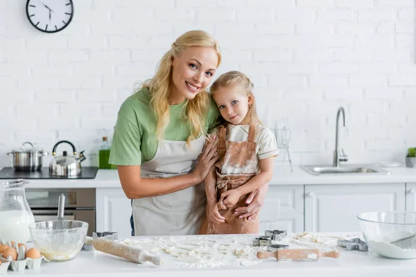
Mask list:
[[[258,251],[257,258],[277,260],[318,260],[321,257],[338,258],[338,250],[322,252],[319,249],[277,249],[275,252]]]

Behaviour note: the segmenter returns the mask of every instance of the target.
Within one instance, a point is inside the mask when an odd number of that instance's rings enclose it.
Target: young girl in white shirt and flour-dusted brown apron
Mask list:
[[[218,140],[220,159],[205,179],[207,218],[201,234],[259,233],[259,218],[239,217],[252,191],[272,179],[273,158],[279,154],[274,134],[261,124],[255,109],[253,84],[239,71],[230,71],[211,86],[211,96],[227,122],[211,132]]]

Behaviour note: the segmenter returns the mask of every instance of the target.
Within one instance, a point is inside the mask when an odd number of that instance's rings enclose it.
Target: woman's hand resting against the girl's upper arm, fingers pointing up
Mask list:
[[[215,143],[216,136],[212,140],[207,140],[204,145],[204,149],[202,149],[202,153],[198,157],[198,163],[196,163],[196,168],[192,172],[193,175],[196,177],[196,180],[199,183],[204,181],[205,177],[207,177],[211,166],[214,165],[216,161],[218,161],[218,146]]]

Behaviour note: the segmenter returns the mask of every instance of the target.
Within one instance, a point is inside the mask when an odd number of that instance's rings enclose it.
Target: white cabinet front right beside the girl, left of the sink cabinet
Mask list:
[[[267,229],[304,231],[304,186],[270,185],[259,219],[261,233]]]

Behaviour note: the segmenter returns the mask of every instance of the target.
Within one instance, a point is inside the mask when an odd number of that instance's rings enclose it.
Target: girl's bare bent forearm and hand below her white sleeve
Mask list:
[[[267,184],[273,177],[273,159],[274,157],[268,157],[266,159],[259,160],[260,173],[258,175],[252,177],[250,181],[243,184],[242,186],[239,186],[238,188],[235,188],[234,190],[227,190],[225,193],[221,194],[221,197],[227,197],[227,195],[233,194],[233,196],[238,201],[241,195],[251,193],[252,191],[257,190],[258,188],[261,188],[261,186]],[[227,199],[224,199],[224,204],[225,206],[229,206],[229,204],[232,203],[229,203]]]

